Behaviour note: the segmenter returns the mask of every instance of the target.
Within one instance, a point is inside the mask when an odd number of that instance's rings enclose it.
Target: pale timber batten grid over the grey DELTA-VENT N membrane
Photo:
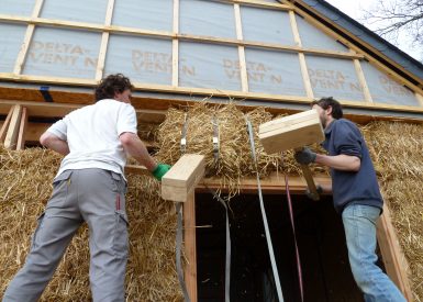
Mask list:
[[[365,96],[365,100],[359,102],[339,100],[343,104],[348,105],[350,108],[359,108],[359,109],[380,109],[380,110],[394,110],[394,111],[403,111],[403,112],[423,113],[422,79],[411,75],[410,72],[401,68],[401,66],[399,66],[398,64],[394,64],[393,61],[389,60],[387,57],[383,57],[383,55],[380,55],[379,57],[375,57],[375,53],[369,54],[364,52],[363,49],[360,49],[359,46],[356,45],[356,44],[358,45],[361,45],[361,44],[356,37],[354,37],[354,35],[348,34],[348,38],[346,38],[345,31],[343,31],[344,35],[342,35],[341,33],[335,32],[334,30],[323,25],[321,21],[318,21],[313,15],[310,15],[310,13],[308,13],[303,9],[304,4],[302,3],[302,1],[285,0],[283,4],[269,3],[260,0],[232,0],[232,1],[222,0],[220,1],[222,3],[232,3],[234,5],[236,38],[221,38],[221,37],[199,36],[199,35],[179,33],[179,0],[174,0],[174,22],[172,22],[171,32],[146,31],[146,30],[138,30],[133,27],[111,25],[114,0],[109,0],[108,2],[105,21],[104,21],[104,24],[102,25],[94,24],[94,23],[59,21],[59,20],[49,20],[49,19],[40,18],[38,15],[40,15],[41,8],[43,5],[43,1],[44,0],[36,1],[36,5],[34,7],[33,13],[29,18],[0,14],[0,22],[9,22],[9,23],[16,23],[16,24],[25,24],[25,25],[27,24],[23,47],[21,47],[21,51],[18,55],[18,59],[15,61],[13,72],[0,72],[0,79],[4,81],[19,82],[19,83],[44,83],[44,85],[55,83],[55,85],[64,85],[64,86],[71,86],[71,87],[78,87],[78,86],[92,87],[103,76],[105,53],[108,48],[108,41],[109,41],[110,34],[130,34],[130,35],[137,35],[137,36],[166,38],[171,41],[171,44],[172,44],[171,85],[151,85],[151,83],[146,85],[143,82],[135,82],[134,86],[137,90],[189,94],[189,96],[197,94],[197,96],[230,97],[230,98],[240,98],[240,99],[258,99],[258,100],[265,100],[269,102],[283,101],[283,102],[292,102],[292,103],[309,103],[310,101],[313,100],[314,96],[311,89],[310,77],[307,72],[307,63],[304,59],[304,55],[314,55],[314,56],[323,56],[323,57],[332,57],[332,58],[345,58],[345,59],[353,60],[356,69],[355,71],[359,80],[359,85]],[[242,32],[242,25],[241,25],[242,24],[241,12],[240,12],[241,4],[247,5],[247,7],[259,7],[264,9],[281,10],[281,11],[288,12],[296,46],[288,46],[288,45],[275,44],[275,43],[259,43],[259,42],[243,40],[243,32]],[[333,37],[334,40],[345,45],[347,48],[349,48],[349,51],[348,52],[321,51],[321,49],[303,47],[299,31],[298,31],[297,22],[296,22],[296,18],[298,16],[305,19],[309,23],[320,29],[329,36]],[[34,27],[36,25],[48,26],[48,27],[74,29],[74,30],[82,29],[91,32],[101,33],[102,34],[101,45],[100,45],[99,58],[97,61],[94,77],[92,79],[77,79],[77,78],[22,75],[22,69],[23,69],[22,67],[27,57],[30,44],[34,33]],[[238,48],[238,58],[240,58],[240,71],[241,71],[241,83],[242,83],[241,91],[180,87],[179,80],[178,80],[178,69],[179,69],[178,57],[179,57],[180,41],[236,46]],[[278,49],[278,51],[298,54],[307,96],[304,97],[280,96],[280,94],[275,96],[275,94],[251,92],[248,89],[248,80],[247,80],[248,75],[247,75],[247,67],[246,67],[246,59],[245,59],[245,47],[248,47],[248,46],[259,47],[264,49]],[[400,85],[403,85],[410,90],[412,90],[420,105],[411,107],[411,105],[375,103],[374,100],[371,99],[371,96],[368,89],[368,83],[363,74],[363,68],[360,65],[361,60],[370,61],[372,65],[375,65],[375,67],[377,67],[381,71],[389,75]],[[389,61],[390,63],[389,65],[396,70],[381,64],[380,60]],[[399,74],[404,76],[400,76]],[[0,85],[0,99],[10,99],[10,97],[9,98],[7,97],[8,90],[9,90],[8,88],[4,88]],[[31,96],[27,96],[27,97],[30,97],[31,99],[37,98],[36,96],[33,94],[34,91],[32,90],[30,91],[27,92],[30,92]],[[35,94],[37,93],[38,91],[35,92]],[[26,98],[26,100],[29,100],[30,98]]]

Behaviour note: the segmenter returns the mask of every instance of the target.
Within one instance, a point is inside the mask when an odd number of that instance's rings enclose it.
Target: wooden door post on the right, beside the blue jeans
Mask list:
[[[383,204],[383,213],[377,224],[377,237],[388,276],[404,294],[407,301],[413,301],[408,278],[409,266],[399,244],[387,204]]]

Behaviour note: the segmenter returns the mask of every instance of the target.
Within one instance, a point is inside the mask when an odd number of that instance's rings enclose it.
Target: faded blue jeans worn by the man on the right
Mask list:
[[[396,284],[376,265],[376,222],[380,209],[352,204],[342,213],[349,265],[366,302],[407,301]]]

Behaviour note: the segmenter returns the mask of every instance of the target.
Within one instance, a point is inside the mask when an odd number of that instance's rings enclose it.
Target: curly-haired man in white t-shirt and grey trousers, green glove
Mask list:
[[[93,301],[124,301],[126,154],[158,180],[170,168],[157,164],[137,136],[132,89],[129,78],[110,75],[96,88],[94,104],[73,111],[41,136],[42,145],[65,158],[25,265],[9,283],[3,302],[38,300],[84,222],[90,233]]]

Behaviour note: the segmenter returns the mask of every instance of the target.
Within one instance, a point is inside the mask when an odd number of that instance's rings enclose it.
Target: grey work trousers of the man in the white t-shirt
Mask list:
[[[37,301],[79,226],[89,227],[93,301],[124,301],[127,260],[126,183],[102,169],[66,170],[32,237],[24,266],[9,283],[3,302]]]

